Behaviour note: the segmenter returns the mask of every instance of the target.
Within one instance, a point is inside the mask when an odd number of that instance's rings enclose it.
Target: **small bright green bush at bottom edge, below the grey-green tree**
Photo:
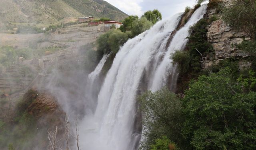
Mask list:
[[[167,136],[162,136],[155,141],[150,150],[179,150],[176,144],[173,144]],[[172,148],[172,149],[171,149]]]

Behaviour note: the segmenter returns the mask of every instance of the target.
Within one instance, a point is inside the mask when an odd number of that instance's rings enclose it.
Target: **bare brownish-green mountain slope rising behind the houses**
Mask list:
[[[66,17],[94,16],[122,20],[127,14],[103,0],[0,0],[0,27],[53,24]]]

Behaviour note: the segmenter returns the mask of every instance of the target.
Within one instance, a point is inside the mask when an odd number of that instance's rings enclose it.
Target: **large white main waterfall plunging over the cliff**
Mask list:
[[[135,138],[136,130],[134,130],[136,96],[142,79],[145,74],[150,74],[148,72],[170,73],[159,68],[171,70],[167,68],[168,65],[163,65],[167,62],[166,58],[169,58],[170,52],[182,49],[186,44],[188,27],[202,18],[205,9],[206,6],[202,6],[194,12],[188,23],[181,29],[182,31],[176,33],[178,36],[174,36],[167,52],[166,44],[171,32],[178,25],[181,14],[158,22],[150,30],[124,44],[116,54],[100,89],[95,113],[85,116],[80,124],[80,141],[82,141],[80,143],[83,149],[136,149],[136,143],[140,139]],[[179,46],[172,46],[176,44]],[[150,78],[148,80],[152,80],[156,74],[146,76]],[[164,85],[162,79],[161,85]],[[151,87],[154,87],[154,80]],[[146,88],[149,88],[148,85]]]

